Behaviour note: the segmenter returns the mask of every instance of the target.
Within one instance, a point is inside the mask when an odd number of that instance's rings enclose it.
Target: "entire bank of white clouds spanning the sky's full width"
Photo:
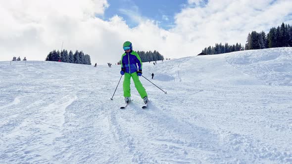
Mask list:
[[[119,15],[108,21],[95,17],[109,7],[106,0],[2,0],[0,60],[44,60],[49,51],[61,48],[62,41],[63,48],[83,50],[98,64],[117,62],[124,41],[132,41],[136,50],[158,50],[167,58],[193,56],[217,42],[244,44],[252,30],[268,32],[282,22],[291,24],[292,16],[287,16],[292,14],[292,1],[270,5],[272,1],[209,0],[201,8],[192,3],[202,0],[189,0],[190,7],[175,16],[175,26],[164,30],[140,15],[138,7],[129,14],[138,23],[135,28]]]

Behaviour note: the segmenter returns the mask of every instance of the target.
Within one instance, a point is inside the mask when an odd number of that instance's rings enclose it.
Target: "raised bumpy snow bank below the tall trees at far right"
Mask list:
[[[234,52],[226,61],[268,85],[292,85],[292,47]]]

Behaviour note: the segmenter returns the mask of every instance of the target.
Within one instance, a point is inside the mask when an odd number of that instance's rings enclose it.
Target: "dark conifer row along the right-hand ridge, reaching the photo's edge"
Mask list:
[[[228,43],[225,43],[225,45],[216,43],[214,47],[205,47],[202,52],[211,55],[248,49],[263,49],[287,46],[292,46],[292,27],[289,24],[284,24],[283,22],[281,27],[278,26],[277,28],[271,28],[267,35],[264,31],[260,33],[252,31],[251,33],[248,33],[245,47],[243,47],[241,43],[236,43],[233,45],[228,45]]]

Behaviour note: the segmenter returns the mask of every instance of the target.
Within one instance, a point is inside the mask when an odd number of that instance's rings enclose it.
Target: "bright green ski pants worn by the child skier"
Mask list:
[[[147,96],[146,90],[143,87],[142,83],[140,82],[137,72],[134,72],[132,74],[125,73],[125,78],[123,82],[124,97],[131,97],[131,89],[130,89],[131,77],[134,81],[135,87],[138,90],[141,98],[144,98],[145,96]]]

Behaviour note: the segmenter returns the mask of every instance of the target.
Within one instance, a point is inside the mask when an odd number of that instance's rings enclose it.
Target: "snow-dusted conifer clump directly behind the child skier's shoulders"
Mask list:
[[[164,60],[163,55],[161,55],[158,51],[154,50],[152,51],[136,51],[142,62],[150,62],[150,61],[157,61],[157,60]],[[121,61],[118,62],[118,64],[121,64]]]

